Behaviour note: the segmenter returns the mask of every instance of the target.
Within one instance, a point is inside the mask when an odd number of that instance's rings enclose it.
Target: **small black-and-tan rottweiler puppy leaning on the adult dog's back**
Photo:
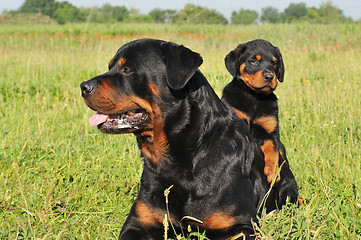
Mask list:
[[[286,204],[287,197],[290,202],[297,202],[298,187],[280,140],[277,96],[273,93],[278,81],[284,79],[281,52],[270,42],[257,39],[232,50],[225,65],[233,80],[223,89],[222,101],[250,126],[264,154],[267,181],[276,182],[268,199],[268,210]]]

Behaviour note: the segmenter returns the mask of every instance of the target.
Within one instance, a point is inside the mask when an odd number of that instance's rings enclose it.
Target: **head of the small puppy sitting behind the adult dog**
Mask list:
[[[240,44],[225,58],[227,70],[257,93],[270,93],[283,82],[284,65],[280,51],[266,40]]]

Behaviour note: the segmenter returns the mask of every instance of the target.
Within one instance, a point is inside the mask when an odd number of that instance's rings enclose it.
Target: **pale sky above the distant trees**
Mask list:
[[[62,0],[58,0],[59,2]],[[0,1],[0,12],[4,10],[17,10],[25,0]],[[101,7],[105,3],[112,6],[125,6],[128,9],[136,8],[142,14],[147,14],[154,8],[160,9],[183,9],[189,3],[202,7],[215,9],[222,13],[226,18],[230,18],[233,11],[239,9],[249,9],[261,12],[264,7],[275,7],[282,12],[290,3],[306,3],[307,7],[319,7],[327,0],[67,0],[76,7]],[[332,0],[334,6],[343,11],[346,17],[352,17],[354,20],[361,19],[361,1],[360,0]]]

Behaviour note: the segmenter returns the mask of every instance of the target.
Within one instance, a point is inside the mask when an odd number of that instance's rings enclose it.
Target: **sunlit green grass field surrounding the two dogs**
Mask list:
[[[260,219],[263,239],[361,239],[361,25],[0,26],[0,239],[115,239],[137,195],[132,135],[104,135],[79,84],[124,43],[200,52],[218,94],[223,59],[264,38],[285,61],[281,140],[305,204]]]

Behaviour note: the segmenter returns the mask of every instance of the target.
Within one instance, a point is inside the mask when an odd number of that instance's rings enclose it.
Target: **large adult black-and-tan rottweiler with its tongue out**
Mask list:
[[[266,191],[263,154],[198,70],[202,62],[184,46],[140,39],[117,51],[108,72],[81,84],[97,111],[90,124],[133,133],[144,159],[119,239],[162,239],[168,211],[177,234],[188,226],[212,240],[254,234]],[[164,190],[171,185],[167,209]]]

